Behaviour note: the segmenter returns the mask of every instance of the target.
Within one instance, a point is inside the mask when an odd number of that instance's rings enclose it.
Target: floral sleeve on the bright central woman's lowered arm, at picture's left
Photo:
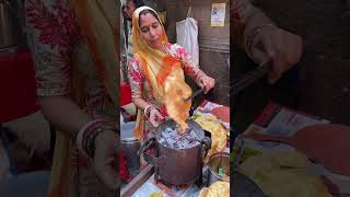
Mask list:
[[[141,99],[143,92],[144,74],[142,72],[140,61],[133,57],[128,67],[129,83],[131,88],[131,97]]]

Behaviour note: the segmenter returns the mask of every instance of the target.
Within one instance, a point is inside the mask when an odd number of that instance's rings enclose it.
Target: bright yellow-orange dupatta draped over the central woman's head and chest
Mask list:
[[[133,55],[140,61],[141,69],[145,77],[145,80],[150,84],[151,92],[154,99],[162,105],[164,105],[164,81],[174,71],[174,69],[182,69],[180,61],[159,49],[155,49],[147,44],[140,34],[139,18],[143,10],[151,10],[155,14],[156,12],[149,7],[140,7],[132,14],[132,45]],[[159,21],[160,18],[156,14]],[[162,44],[167,44],[167,36],[163,24]],[[145,117],[143,112],[138,109],[136,128],[133,136],[140,140],[144,140],[144,123]]]

